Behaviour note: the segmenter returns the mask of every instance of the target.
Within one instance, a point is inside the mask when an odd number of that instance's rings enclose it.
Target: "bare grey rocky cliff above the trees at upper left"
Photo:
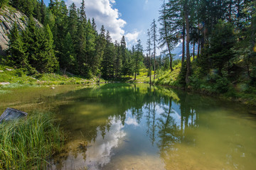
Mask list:
[[[4,50],[8,49],[8,35],[15,21],[19,30],[25,30],[28,17],[24,13],[17,11],[16,8],[5,7],[0,9],[0,55],[6,55]],[[36,23],[39,27],[42,27],[41,23],[38,23],[38,21]]]

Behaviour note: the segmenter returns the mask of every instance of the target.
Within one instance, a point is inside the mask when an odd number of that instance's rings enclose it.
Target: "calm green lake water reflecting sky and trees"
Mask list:
[[[68,132],[49,169],[255,169],[255,108],[146,84],[0,91],[0,111],[53,111]]]

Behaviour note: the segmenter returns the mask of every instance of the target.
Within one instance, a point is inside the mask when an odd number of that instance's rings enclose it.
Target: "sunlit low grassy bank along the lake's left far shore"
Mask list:
[[[122,79],[100,79],[100,83],[122,81],[122,82],[146,82],[149,83],[149,72],[147,69],[139,69],[137,79],[134,80],[134,75],[131,77],[122,77]],[[154,72],[151,72],[151,79],[153,80]],[[7,83],[9,87],[16,86],[51,86],[51,85],[64,85],[64,84],[95,84],[99,79],[93,77],[92,79],[83,79],[82,77],[73,74],[59,73],[44,73],[28,76],[22,69],[14,69],[0,65],[0,83]],[[0,84],[1,86],[1,84]]]

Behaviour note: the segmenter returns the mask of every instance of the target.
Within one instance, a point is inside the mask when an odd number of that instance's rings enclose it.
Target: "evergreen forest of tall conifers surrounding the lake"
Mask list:
[[[8,56],[2,61],[29,75],[61,70],[85,79],[136,80],[144,69],[150,84],[210,94],[255,92],[255,1],[159,3],[160,16],[147,30],[147,46],[138,40],[128,49],[124,35],[112,40],[104,26],[87,18],[85,0],[80,7],[63,0],[50,0],[48,6],[43,0],[1,0],[1,8],[13,6],[29,18],[26,30],[14,23]],[[182,56],[174,60],[171,52],[179,43]],[[159,47],[164,50],[156,54]]]

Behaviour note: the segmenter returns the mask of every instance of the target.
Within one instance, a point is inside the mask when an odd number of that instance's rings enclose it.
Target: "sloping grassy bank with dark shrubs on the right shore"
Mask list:
[[[238,64],[238,67],[242,68],[243,66]],[[232,74],[228,76],[226,73],[223,74],[223,77],[215,73],[215,70],[202,74],[201,67],[196,61],[192,62],[192,69],[191,81],[188,85],[186,85],[184,77],[186,71],[181,70],[181,63],[174,67],[173,72],[170,70],[161,72],[153,83],[256,106],[256,87],[250,84],[250,79],[246,77],[246,72],[240,72],[235,76]]]

